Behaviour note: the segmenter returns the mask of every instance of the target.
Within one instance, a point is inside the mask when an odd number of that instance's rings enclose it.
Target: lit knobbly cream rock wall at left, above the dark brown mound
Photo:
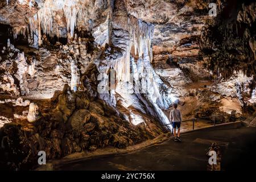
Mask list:
[[[56,51],[39,48],[35,56],[26,55],[13,44],[5,49],[7,58],[1,62],[0,93],[32,98],[51,98],[56,90],[68,83],[79,88],[80,73],[84,73],[92,55],[87,40],[77,38]],[[16,55],[16,57],[14,56]],[[61,59],[59,55],[64,55]],[[37,59],[37,60],[36,60]],[[1,69],[1,68],[0,68]],[[18,80],[15,81],[15,80]]]

